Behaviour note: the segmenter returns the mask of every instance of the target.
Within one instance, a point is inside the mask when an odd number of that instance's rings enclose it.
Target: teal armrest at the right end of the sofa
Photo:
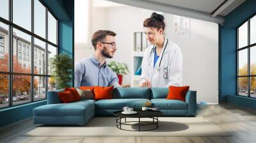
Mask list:
[[[186,94],[186,103],[188,103],[188,115],[196,115],[196,91],[188,91]]]

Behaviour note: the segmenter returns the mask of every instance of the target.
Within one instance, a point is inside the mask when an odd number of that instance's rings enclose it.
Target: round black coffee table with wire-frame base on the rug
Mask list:
[[[138,126],[139,130],[127,130],[127,131],[150,131],[155,130],[158,128],[159,123],[159,116],[163,116],[163,112],[159,110],[138,110],[137,114],[122,114],[122,110],[114,112],[114,116],[116,116],[116,127],[120,130],[126,130],[122,128],[122,124],[124,125],[131,125],[131,126]],[[138,121],[126,121],[127,117],[131,118],[138,118]],[[141,118],[151,118],[152,121],[141,121]],[[125,119],[124,122],[122,122],[122,119]],[[131,124],[131,123],[138,123],[138,124]],[[148,130],[141,130],[141,126],[147,126],[147,125],[154,125],[153,128],[150,128]]]

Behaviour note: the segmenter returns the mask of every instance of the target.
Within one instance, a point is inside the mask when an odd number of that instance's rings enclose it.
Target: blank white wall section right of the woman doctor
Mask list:
[[[183,85],[197,91],[197,102],[218,103],[218,24],[190,19],[190,36],[174,33],[173,15],[166,14],[166,36],[183,55]]]

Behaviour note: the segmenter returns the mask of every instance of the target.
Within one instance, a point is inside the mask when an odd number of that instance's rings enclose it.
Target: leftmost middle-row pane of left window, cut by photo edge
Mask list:
[[[0,71],[9,71],[9,27],[6,24],[0,22]]]

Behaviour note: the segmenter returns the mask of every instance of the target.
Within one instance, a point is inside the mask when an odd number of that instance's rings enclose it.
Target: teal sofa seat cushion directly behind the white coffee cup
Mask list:
[[[128,106],[135,110],[141,109],[146,102],[150,102],[148,99],[112,99],[112,100],[99,100],[95,102],[95,109],[104,110],[122,110],[123,107]]]

